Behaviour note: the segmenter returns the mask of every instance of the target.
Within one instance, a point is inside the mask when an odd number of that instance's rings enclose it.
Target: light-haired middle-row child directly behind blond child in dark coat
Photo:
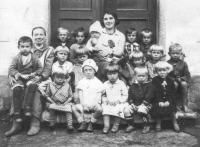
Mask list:
[[[152,45],[149,49],[149,61],[146,62],[146,66],[149,71],[150,78],[157,76],[155,71],[155,64],[161,61],[164,57],[164,48],[160,45]]]

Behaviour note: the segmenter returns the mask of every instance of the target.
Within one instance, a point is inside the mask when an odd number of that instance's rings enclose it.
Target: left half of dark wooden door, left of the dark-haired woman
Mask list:
[[[89,25],[100,19],[101,0],[51,0],[51,41],[56,29],[65,27],[70,31],[78,27],[88,30]]]

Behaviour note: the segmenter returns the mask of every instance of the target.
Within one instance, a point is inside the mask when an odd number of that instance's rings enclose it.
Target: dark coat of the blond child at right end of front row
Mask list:
[[[152,97],[149,102],[153,104],[151,115],[153,118],[170,117],[176,112],[176,91],[172,79],[163,79],[156,76],[152,79]],[[168,107],[160,107],[159,102],[169,102]]]

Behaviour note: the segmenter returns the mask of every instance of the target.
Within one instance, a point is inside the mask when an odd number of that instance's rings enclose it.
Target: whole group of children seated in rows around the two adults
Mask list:
[[[102,80],[96,76],[102,71],[98,70],[97,60],[93,60],[95,50],[91,49],[97,44],[101,31],[91,28],[88,42],[83,28],[74,33],[75,43],[67,29],[58,29],[51,81],[47,89],[40,90],[50,114],[50,127],[55,126],[56,114],[61,112],[66,116],[68,131],[74,130],[73,118],[76,118],[80,124],[78,131],[92,132],[93,124],[102,115],[105,134],[110,130],[111,117],[114,121],[111,132],[118,131],[121,119],[127,120],[126,132],[131,132],[135,115],[144,121],[143,133],[150,130],[151,117],[156,121],[157,131],[161,130],[161,120],[165,117],[171,118],[175,131],[180,131],[175,115],[180,92],[183,99],[180,109],[190,111],[187,107],[190,72],[182,58],[180,44],[170,45],[170,60],[165,61],[164,48],[153,44],[150,29],[143,29],[139,34],[130,28],[125,32],[123,56],[117,62],[110,57],[104,73],[107,79]],[[33,55],[32,46],[31,38],[21,37],[18,41],[20,53],[9,68],[14,119],[18,122],[22,121],[21,108],[25,116],[31,116],[33,93],[41,74],[41,63]]]

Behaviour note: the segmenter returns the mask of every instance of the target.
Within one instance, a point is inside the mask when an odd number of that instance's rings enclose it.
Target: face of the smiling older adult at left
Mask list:
[[[44,30],[38,28],[33,31],[33,42],[35,44],[43,44],[46,41]]]

